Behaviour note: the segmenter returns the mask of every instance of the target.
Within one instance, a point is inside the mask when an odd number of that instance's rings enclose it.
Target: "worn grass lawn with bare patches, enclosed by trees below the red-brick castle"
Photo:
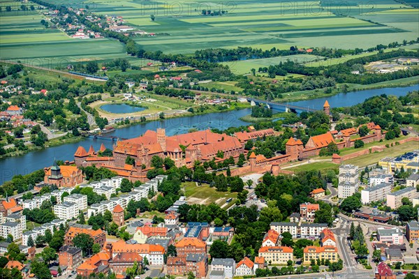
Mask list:
[[[214,202],[222,206],[226,204],[226,199],[237,197],[237,193],[217,192],[215,188],[210,188],[208,184],[196,186],[195,182],[185,182],[182,186],[188,202],[192,204],[211,204]]]

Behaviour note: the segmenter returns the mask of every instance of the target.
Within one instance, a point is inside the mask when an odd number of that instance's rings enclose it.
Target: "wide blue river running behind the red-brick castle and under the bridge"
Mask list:
[[[366,98],[381,95],[383,93],[395,96],[404,96],[409,91],[419,90],[419,85],[409,87],[371,89],[365,91],[354,91],[348,93],[339,93],[328,98],[318,98],[314,100],[304,100],[295,102],[293,105],[301,107],[314,107],[322,109],[325,100],[328,100],[331,107],[348,107],[362,103]],[[216,112],[212,114],[204,114],[198,116],[185,116],[173,119],[165,119],[163,121],[152,121],[149,123],[138,124],[126,128],[119,128],[115,132],[108,135],[117,137],[138,137],[145,133],[146,130],[156,130],[156,128],[166,128],[166,135],[177,135],[187,133],[189,129],[196,128],[203,130],[206,128],[225,129],[233,126],[244,126],[247,122],[241,121],[240,117],[251,113],[251,109],[237,110],[232,112]],[[63,144],[60,146],[50,147],[41,151],[27,153],[24,156],[10,157],[0,159],[0,184],[10,180],[16,174],[29,174],[36,169],[48,167],[52,165],[54,158],[57,160],[73,160],[73,154],[79,145],[84,146],[86,150],[93,145],[98,150],[101,144],[112,149],[113,142],[110,140],[97,140],[93,138],[85,138],[81,142],[73,144]]]

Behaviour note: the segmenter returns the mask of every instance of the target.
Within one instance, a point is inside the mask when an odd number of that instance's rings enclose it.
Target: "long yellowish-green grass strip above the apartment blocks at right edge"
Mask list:
[[[372,165],[374,163],[377,163],[379,160],[385,157],[397,157],[415,149],[418,149],[418,142],[406,142],[405,144],[400,144],[385,149],[385,151],[383,152],[371,153],[363,156],[358,156],[350,160],[346,160],[344,163],[364,167],[366,165]]]

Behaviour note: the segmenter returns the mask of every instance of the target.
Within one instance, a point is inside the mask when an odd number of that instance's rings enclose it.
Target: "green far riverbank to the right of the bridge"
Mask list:
[[[382,89],[382,88],[394,88],[394,87],[408,87],[418,84],[418,77],[406,77],[399,80],[389,80],[386,82],[377,82],[374,84],[346,84],[346,92],[357,92],[365,91],[369,89]],[[337,84],[337,88],[332,89],[330,93],[325,93],[324,89],[314,89],[305,91],[294,91],[282,93],[282,98],[275,98],[274,102],[277,103],[291,103],[299,102],[302,100],[314,100],[317,98],[332,97],[339,93],[346,93],[343,89],[343,84]]]

